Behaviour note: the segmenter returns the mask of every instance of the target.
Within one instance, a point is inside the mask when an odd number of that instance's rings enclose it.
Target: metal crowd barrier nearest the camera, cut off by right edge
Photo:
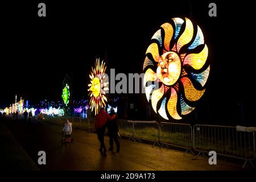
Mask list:
[[[193,148],[199,154],[216,151],[218,155],[243,159],[247,162],[255,159],[254,132],[237,131],[236,127],[195,125],[193,127]]]

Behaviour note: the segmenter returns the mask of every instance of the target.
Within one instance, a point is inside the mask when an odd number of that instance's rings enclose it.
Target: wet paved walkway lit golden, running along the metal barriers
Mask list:
[[[161,149],[149,144],[120,139],[121,151],[102,156],[98,151],[97,135],[74,130],[74,142],[61,144],[60,126],[21,120],[5,122],[16,140],[28,155],[37,162],[38,151],[46,151],[47,164],[42,170],[241,170],[239,164],[217,159],[217,165],[209,165],[208,159],[184,156],[183,151]],[[105,137],[108,145],[108,137]]]

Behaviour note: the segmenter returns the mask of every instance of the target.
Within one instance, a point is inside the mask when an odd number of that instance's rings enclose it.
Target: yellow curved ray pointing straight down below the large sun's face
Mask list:
[[[177,93],[174,88],[171,88],[171,97],[167,103],[167,110],[172,118],[174,119],[182,119],[180,115],[177,113]]]

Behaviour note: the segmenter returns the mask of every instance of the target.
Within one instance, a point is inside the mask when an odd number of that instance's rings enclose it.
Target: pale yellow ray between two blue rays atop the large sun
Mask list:
[[[185,18],[186,20],[186,27],[183,34],[180,36],[179,40],[177,41],[177,52],[180,52],[180,48],[183,47],[185,44],[191,42],[193,37],[193,24],[191,20]]]

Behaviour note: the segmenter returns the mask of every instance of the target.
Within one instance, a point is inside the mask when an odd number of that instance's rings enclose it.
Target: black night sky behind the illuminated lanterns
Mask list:
[[[38,17],[40,2],[46,3],[46,18]],[[210,2],[217,4],[217,17],[208,16]],[[141,73],[155,31],[171,18],[187,17],[201,27],[211,63],[207,91],[188,119],[255,125],[253,7],[246,1],[1,3],[0,108],[13,103],[15,94],[31,102],[60,100],[66,73],[73,99],[88,98],[96,56],[116,73]],[[135,104],[131,119],[143,119],[144,94],[118,97]]]

